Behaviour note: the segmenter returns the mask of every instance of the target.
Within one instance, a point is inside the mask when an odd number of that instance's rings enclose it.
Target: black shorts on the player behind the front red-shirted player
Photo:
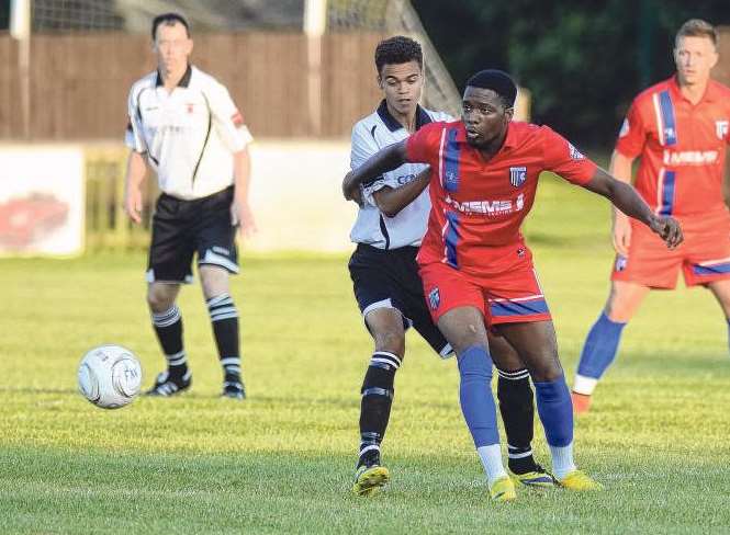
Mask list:
[[[451,354],[451,345],[431,321],[426,307],[417,253],[417,247],[383,250],[359,243],[348,265],[355,298],[363,318],[378,308],[395,308],[403,316],[403,326],[406,329],[413,326],[446,358]]]

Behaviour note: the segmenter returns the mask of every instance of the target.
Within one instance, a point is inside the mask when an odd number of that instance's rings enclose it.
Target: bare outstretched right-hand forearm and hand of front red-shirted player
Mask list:
[[[658,234],[670,249],[682,243],[682,228],[673,217],[658,216],[630,184],[615,179],[600,168],[583,187],[608,198],[624,214],[640,220]]]

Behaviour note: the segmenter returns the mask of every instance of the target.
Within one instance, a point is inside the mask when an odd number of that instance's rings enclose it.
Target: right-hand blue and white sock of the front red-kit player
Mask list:
[[[573,403],[565,377],[536,382],[538,414],[552,456],[552,469],[562,479],[575,469],[573,463]]]

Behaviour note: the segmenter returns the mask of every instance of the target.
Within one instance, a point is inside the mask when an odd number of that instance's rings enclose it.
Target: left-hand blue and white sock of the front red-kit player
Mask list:
[[[479,453],[486,478],[492,485],[506,476],[499,452],[496,409],[492,396],[492,357],[486,348],[472,345],[459,358],[459,400]]]

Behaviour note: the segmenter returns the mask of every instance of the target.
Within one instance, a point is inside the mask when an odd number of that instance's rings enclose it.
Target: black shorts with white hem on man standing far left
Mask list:
[[[191,283],[198,265],[218,265],[238,273],[236,228],[231,223],[233,186],[193,201],[162,193],[153,216],[147,282]]]

